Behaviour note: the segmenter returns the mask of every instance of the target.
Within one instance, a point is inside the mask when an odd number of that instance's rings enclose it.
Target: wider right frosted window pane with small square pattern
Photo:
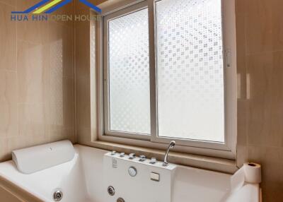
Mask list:
[[[221,0],[156,2],[158,136],[224,142]]]

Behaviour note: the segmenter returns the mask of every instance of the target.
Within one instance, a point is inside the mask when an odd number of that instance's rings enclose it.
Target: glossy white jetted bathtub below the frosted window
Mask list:
[[[138,202],[139,196],[144,196],[145,189],[135,189],[134,185],[127,184],[129,191],[119,196],[110,197],[108,185],[105,184],[103,173],[103,158],[107,150],[74,145],[76,155],[73,160],[33,174],[18,172],[13,161],[0,163],[0,177],[11,182],[18,188],[35,196],[38,201],[54,201],[55,191],[62,191],[63,202],[115,202],[119,197],[134,196]],[[120,175],[120,174],[117,174]],[[121,175],[122,176],[122,175]],[[221,202],[221,201],[260,201],[260,188],[258,184],[246,184],[236,193],[230,193],[230,174],[201,170],[193,167],[176,165],[172,178],[172,202]],[[137,180],[136,180],[137,181]],[[116,186],[126,186],[121,180]],[[139,183],[132,179],[132,184]],[[144,187],[147,185],[144,184]],[[158,186],[158,184],[156,184]],[[115,187],[119,189],[119,187]],[[122,190],[122,189],[120,189]],[[126,193],[127,192],[127,193]],[[163,196],[163,191],[158,191]],[[9,202],[9,201],[8,201]],[[30,202],[30,201],[29,201]],[[147,202],[161,202],[158,199]]]

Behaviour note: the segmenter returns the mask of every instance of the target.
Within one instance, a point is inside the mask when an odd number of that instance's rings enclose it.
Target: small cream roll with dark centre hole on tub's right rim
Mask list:
[[[254,162],[243,164],[245,182],[259,184],[261,182],[261,166]]]

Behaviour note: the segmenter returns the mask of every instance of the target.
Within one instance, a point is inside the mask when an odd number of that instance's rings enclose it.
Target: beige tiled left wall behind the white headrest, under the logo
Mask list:
[[[0,0],[0,161],[11,150],[75,141],[74,23],[15,22],[37,0]],[[74,3],[59,12],[74,13]]]

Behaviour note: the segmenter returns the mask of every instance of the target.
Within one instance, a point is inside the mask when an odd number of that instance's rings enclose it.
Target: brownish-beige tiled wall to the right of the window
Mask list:
[[[282,8],[281,0],[236,0],[237,62],[243,78],[237,160],[239,166],[246,160],[262,165],[265,202],[283,201]]]

